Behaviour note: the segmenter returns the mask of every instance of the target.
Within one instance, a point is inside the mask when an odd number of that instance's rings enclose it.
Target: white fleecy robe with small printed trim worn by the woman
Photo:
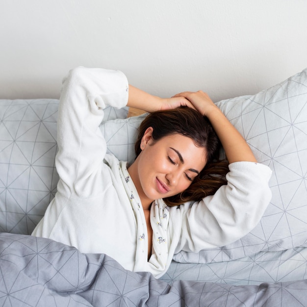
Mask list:
[[[181,250],[224,246],[255,228],[271,199],[271,170],[254,162],[231,163],[228,184],[200,202],[168,207],[153,202],[152,256],[144,211],[127,162],[106,154],[99,125],[106,105],[128,102],[128,80],[119,71],[78,67],[63,81],[56,156],[55,198],[32,235],[103,253],[125,269],[161,277]]]

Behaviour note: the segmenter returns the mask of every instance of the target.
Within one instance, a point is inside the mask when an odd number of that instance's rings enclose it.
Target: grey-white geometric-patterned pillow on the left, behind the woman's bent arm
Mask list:
[[[57,109],[58,100],[55,99],[0,100],[2,232],[30,234],[55,195],[59,179],[54,166]],[[116,118],[126,118],[127,114],[127,107],[119,110],[108,106],[103,122],[111,120],[112,123]],[[116,126],[114,131],[121,130]],[[122,128],[127,131],[127,127]],[[119,142],[125,144],[127,132],[122,135]],[[127,159],[121,148],[118,150]],[[128,155],[127,151],[123,153]]]

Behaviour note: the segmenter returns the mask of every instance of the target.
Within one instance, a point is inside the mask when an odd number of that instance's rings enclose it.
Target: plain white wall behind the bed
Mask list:
[[[0,42],[0,98],[58,98],[82,65],[218,101],[307,67],[307,1],[1,0]]]

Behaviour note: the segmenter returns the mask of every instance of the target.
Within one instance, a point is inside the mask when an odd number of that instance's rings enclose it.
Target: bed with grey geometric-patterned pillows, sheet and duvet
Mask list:
[[[271,203],[249,234],[180,252],[157,280],[30,236],[56,192],[58,100],[0,100],[0,306],[307,306],[307,69],[216,104],[271,167]],[[145,116],[108,107],[108,151],[132,161]]]

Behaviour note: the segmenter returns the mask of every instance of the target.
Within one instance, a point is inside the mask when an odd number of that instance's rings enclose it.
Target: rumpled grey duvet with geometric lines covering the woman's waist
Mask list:
[[[64,244],[0,233],[0,306],[307,306],[307,281],[233,286],[133,273]]]

